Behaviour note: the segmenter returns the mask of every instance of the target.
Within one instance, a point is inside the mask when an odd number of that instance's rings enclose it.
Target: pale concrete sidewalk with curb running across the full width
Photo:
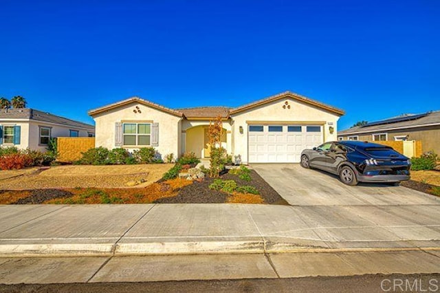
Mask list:
[[[0,256],[440,250],[439,204],[0,206]]]

